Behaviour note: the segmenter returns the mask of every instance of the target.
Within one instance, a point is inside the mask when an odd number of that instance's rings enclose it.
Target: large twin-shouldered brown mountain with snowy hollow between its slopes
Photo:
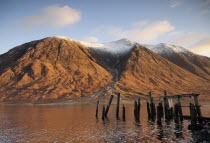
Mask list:
[[[145,98],[149,91],[159,96],[163,90],[209,98],[209,87],[209,80],[127,39],[89,43],[48,37],[0,55],[2,102],[60,102],[113,92]]]

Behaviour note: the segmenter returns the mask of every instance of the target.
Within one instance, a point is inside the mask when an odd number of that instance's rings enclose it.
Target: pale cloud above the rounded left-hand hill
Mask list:
[[[81,20],[81,12],[65,5],[49,6],[41,10],[37,15],[25,17],[19,22],[24,28],[45,26],[50,28],[62,28],[77,23]]]

